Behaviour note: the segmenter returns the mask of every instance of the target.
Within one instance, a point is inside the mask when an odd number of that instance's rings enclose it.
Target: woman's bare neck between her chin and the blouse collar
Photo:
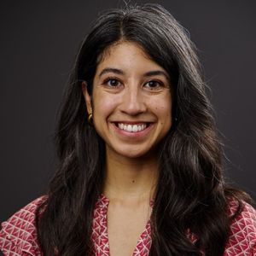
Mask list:
[[[158,163],[155,157],[126,158],[107,152],[103,193],[110,200],[151,200],[157,179]]]

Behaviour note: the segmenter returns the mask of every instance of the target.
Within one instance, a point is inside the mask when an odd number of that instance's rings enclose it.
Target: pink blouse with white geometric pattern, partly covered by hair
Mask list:
[[[20,209],[2,224],[0,230],[0,250],[8,256],[43,256],[37,240],[35,212],[46,197],[39,197]],[[107,211],[108,198],[101,195],[96,203],[93,219],[92,241],[96,256],[109,256]],[[236,201],[230,202],[230,214],[236,211]],[[195,241],[195,236],[189,236]],[[151,246],[150,222],[137,241],[133,256],[148,256]],[[224,256],[256,255],[256,211],[245,203],[239,216],[231,224],[230,238]]]

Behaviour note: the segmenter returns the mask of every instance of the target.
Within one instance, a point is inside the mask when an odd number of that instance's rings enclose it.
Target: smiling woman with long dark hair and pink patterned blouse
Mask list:
[[[7,255],[256,255],[195,46],[159,5],[109,10],[79,50],[48,195],[2,224]],[[16,253],[16,254],[15,254]]]

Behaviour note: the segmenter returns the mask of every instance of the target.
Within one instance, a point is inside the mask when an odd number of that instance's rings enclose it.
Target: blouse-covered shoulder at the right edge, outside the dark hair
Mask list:
[[[230,236],[224,256],[256,255],[256,211],[247,202],[242,202],[241,211],[237,201],[230,201]]]

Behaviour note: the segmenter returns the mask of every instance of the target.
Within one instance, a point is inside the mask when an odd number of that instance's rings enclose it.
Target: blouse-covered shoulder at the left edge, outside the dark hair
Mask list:
[[[36,215],[38,207],[46,200],[46,195],[39,197],[1,224],[0,250],[4,255],[41,255]]]

